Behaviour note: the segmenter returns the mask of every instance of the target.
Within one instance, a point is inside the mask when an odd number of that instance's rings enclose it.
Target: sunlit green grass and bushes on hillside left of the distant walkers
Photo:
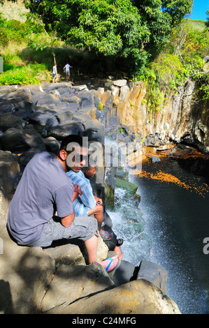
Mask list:
[[[43,23],[36,15],[27,15],[24,22],[6,20],[0,16],[0,54],[3,57],[0,84],[50,82],[53,64],[50,41],[50,36],[45,33]],[[21,47],[24,50],[20,50]],[[45,48],[49,51],[42,56]]]

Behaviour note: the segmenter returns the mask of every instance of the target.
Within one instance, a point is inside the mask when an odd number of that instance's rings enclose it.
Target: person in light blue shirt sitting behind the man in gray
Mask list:
[[[103,223],[103,204],[101,198],[93,195],[89,178],[95,174],[95,165],[88,167],[71,167],[67,175],[73,181],[74,186],[80,186],[81,193],[73,200],[75,216],[92,216],[98,221],[99,233],[102,239],[110,240],[113,233],[101,229]]]

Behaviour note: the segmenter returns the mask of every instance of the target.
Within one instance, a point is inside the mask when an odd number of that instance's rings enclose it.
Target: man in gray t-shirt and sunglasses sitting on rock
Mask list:
[[[73,145],[71,151],[69,144]],[[79,191],[73,195],[73,182],[66,175],[68,157],[71,155],[76,167],[82,167],[86,154],[82,138],[69,135],[57,157],[44,151],[29,161],[8,212],[8,231],[18,245],[46,247],[57,239],[78,238],[85,243],[89,264],[98,262],[96,218],[75,216],[72,198]],[[117,256],[99,262],[106,271],[115,269],[117,263]]]

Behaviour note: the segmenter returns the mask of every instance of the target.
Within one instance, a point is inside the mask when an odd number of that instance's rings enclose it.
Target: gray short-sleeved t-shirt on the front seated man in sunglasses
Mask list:
[[[27,164],[10,202],[8,230],[17,244],[29,245],[43,234],[55,210],[63,218],[73,213],[73,182],[64,167],[47,152]]]

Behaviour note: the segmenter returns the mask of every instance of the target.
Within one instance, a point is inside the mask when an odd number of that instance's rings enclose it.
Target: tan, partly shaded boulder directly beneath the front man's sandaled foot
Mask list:
[[[88,266],[59,265],[55,278],[41,302],[41,311],[45,313],[53,309],[53,313],[62,313],[65,306],[77,299],[102,292],[113,285],[108,274],[96,262]]]

